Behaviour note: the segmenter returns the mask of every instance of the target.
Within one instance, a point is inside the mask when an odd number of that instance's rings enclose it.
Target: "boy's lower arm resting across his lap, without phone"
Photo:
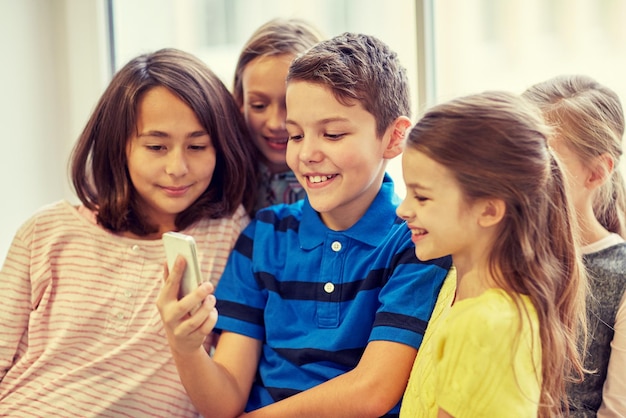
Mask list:
[[[402,397],[416,353],[404,344],[372,341],[353,370],[246,417],[382,416]]]

